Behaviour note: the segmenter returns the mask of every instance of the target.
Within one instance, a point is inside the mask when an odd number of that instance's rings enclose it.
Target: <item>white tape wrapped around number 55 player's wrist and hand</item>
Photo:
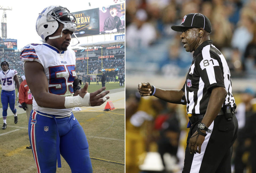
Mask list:
[[[69,96],[65,97],[65,108],[74,108],[81,106],[91,106],[90,104],[90,93],[86,93],[82,98],[81,96]]]

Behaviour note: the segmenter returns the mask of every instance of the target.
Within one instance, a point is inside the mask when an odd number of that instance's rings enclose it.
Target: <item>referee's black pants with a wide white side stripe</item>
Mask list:
[[[238,132],[237,118],[234,116],[231,121],[227,121],[224,115],[218,115],[209,127],[213,131],[207,132],[201,153],[190,154],[189,139],[201,121],[198,120],[190,127],[182,173],[231,173],[232,145]]]

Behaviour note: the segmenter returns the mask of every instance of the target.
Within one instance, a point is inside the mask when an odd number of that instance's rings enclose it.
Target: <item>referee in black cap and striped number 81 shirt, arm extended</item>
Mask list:
[[[210,20],[200,13],[184,16],[181,41],[193,61],[181,90],[164,90],[139,83],[141,96],[154,95],[170,103],[186,104],[189,116],[183,173],[231,173],[232,145],[237,138],[230,71],[223,54],[210,40]]]

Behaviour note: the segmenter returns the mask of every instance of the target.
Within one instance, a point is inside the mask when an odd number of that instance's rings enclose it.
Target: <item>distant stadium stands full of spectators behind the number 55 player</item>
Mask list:
[[[125,73],[125,48],[118,50],[108,49],[108,50],[93,50],[93,51],[84,51],[84,49],[75,50],[76,54],[76,72],[78,77],[82,80],[82,83],[85,82],[96,82],[97,78],[101,81],[101,70],[106,77],[108,77],[109,82],[115,81],[115,78],[118,74]],[[112,58],[98,58],[98,56],[115,55],[116,57]],[[20,60],[21,52],[0,52],[1,62],[7,61],[9,63],[10,69],[15,69],[18,72],[18,76],[21,77],[25,75],[23,70],[23,64]],[[86,59],[89,57],[89,60]],[[87,66],[88,65],[88,66]],[[87,70],[88,69],[88,70]],[[115,69],[107,71],[107,69]],[[88,75],[91,74],[91,75]],[[97,74],[97,75],[93,75]]]

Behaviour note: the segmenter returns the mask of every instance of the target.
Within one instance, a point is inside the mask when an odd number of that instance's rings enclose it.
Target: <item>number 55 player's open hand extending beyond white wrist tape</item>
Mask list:
[[[81,96],[83,98],[83,96],[85,96],[85,94],[88,92],[87,88],[88,88],[88,82],[85,82],[85,86],[81,89],[79,96]],[[105,95],[109,94],[109,91],[105,91],[105,92],[101,93],[105,89],[106,89],[106,87],[102,87],[101,89],[98,89],[97,91],[90,93],[91,106],[100,106],[107,99],[109,99],[109,96],[105,97]]]

